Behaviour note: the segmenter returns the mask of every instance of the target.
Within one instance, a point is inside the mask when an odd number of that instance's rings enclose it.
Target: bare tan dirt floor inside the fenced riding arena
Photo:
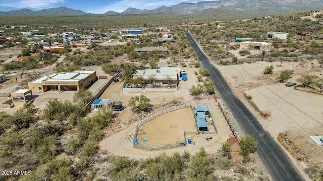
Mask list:
[[[184,130],[196,130],[191,108],[172,111],[145,123],[139,127],[137,140],[141,145],[184,142]]]

